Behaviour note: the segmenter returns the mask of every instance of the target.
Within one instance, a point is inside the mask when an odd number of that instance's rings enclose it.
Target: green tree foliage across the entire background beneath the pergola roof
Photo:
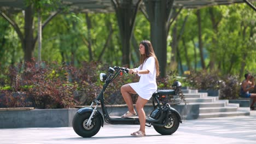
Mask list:
[[[29,2],[39,2],[39,6],[42,2],[46,5],[53,3],[53,1]],[[234,74],[240,77],[247,71],[256,73],[255,12],[246,4],[207,7],[200,12],[203,61],[206,70],[218,70],[220,74]],[[42,19],[46,20],[50,13],[50,9],[45,10]],[[11,18],[20,28],[24,27],[25,20],[21,12],[12,14]],[[122,45],[115,14],[90,13],[88,18],[90,22],[86,20],[85,13],[65,10],[49,21],[48,26],[43,29],[42,61],[66,62],[78,66],[83,61],[90,61],[92,56],[91,61],[121,65]],[[187,20],[182,30],[185,19]],[[34,21],[36,20],[37,17],[34,16]],[[2,17],[0,17],[0,25],[1,67],[24,61],[24,51],[18,34]],[[37,26],[34,26],[36,29]],[[173,53],[171,46],[175,40],[171,30],[174,27],[177,28],[177,34],[181,34],[181,38],[176,41],[179,57],[177,51]],[[22,29],[21,31],[23,32]],[[36,35],[36,31],[33,35]],[[138,64],[138,43],[143,39],[150,39],[150,25],[139,11],[131,39],[131,65]],[[183,9],[168,33],[167,65],[175,65],[170,61],[174,56],[179,63],[174,69],[178,69],[180,74],[185,70],[202,69],[198,47],[196,10]],[[32,54],[37,58],[37,51],[33,51]],[[167,70],[171,69],[167,67]]]

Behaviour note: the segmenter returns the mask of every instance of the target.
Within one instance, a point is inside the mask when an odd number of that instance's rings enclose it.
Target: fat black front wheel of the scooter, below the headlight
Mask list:
[[[87,125],[86,122],[88,121],[91,112],[84,113],[80,115],[79,113],[75,113],[73,118],[72,126],[79,136],[82,137],[92,137],[98,133],[101,128],[101,118],[100,116],[95,116],[91,119],[91,124]]]

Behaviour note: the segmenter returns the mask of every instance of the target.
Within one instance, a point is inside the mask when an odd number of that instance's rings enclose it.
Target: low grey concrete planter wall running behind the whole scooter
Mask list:
[[[199,105],[173,105],[182,119],[196,119],[199,117]],[[101,109],[98,109],[101,113]],[[121,116],[127,111],[127,106],[112,106],[107,108],[109,116]],[[145,106],[146,115],[153,110],[152,106]],[[0,128],[27,127],[71,127],[77,109],[36,109],[36,110],[8,110],[0,111]]]

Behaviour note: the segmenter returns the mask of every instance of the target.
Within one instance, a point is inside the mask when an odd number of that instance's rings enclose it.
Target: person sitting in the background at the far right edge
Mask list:
[[[250,81],[251,80],[251,81]],[[256,101],[256,93],[249,93],[251,89],[254,88],[254,78],[251,74],[245,74],[245,80],[243,80],[240,95],[243,98],[252,98],[252,104],[250,106],[251,110],[254,110],[254,103]]]

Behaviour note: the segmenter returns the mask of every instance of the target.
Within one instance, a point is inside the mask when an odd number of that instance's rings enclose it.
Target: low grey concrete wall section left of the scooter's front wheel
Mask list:
[[[0,111],[0,128],[68,127],[77,109]]]

